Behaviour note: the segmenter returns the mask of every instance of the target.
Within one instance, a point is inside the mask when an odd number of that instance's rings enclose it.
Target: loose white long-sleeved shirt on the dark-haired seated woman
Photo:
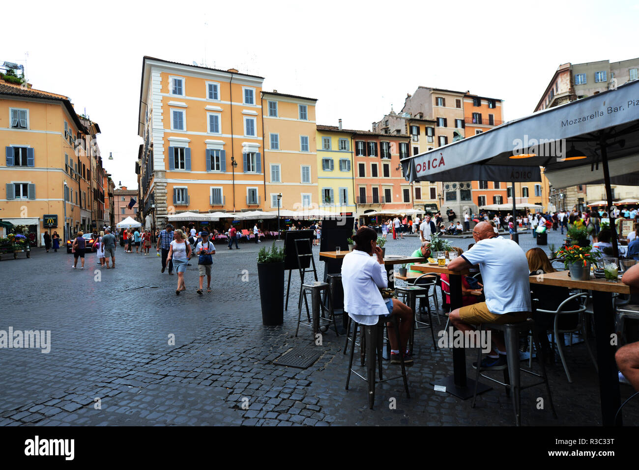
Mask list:
[[[380,287],[389,282],[383,264],[376,256],[361,250],[353,250],[342,262],[342,285],[344,288],[344,310],[358,323],[377,324],[378,315],[387,315],[389,309],[382,298]]]

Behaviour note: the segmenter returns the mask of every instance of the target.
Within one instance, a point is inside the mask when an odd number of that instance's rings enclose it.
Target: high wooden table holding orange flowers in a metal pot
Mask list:
[[[597,367],[599,368],[599,398],[601,400],[601,421],[604,426],[615,425],[615,414],[620,406],[619,377],[615,352],[617,345],[611,344],[615,334],[615,311],[612,303],[613,292],[636,294],[639,289],[619,282],[605,279],[587,281],[573,280],[569,271],[557,271],[544,275],[531,276],[531,284],[558,285],[570,289],[592,291],[592,312],[595,319],[595,340],[597,345]],[[616,343],[616,342],[615,342]],[[618,425],[621,425],[619,416]]]

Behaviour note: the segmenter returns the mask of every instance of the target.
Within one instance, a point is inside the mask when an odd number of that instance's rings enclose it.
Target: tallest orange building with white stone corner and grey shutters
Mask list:
[[[141,218],[264,210],[263,77],[145,56],[139,103]],[[150,204],[147,204],[150,202]]]

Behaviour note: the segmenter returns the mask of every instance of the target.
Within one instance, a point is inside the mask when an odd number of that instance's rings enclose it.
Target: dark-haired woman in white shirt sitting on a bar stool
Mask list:
[[[342,285],[344,288],[344,312],[358,323],[377,324],[381,317],[397,315],[399,318],[399,341],[389,327],[390,363],[400,364],[399,352],[404,354],[404,364],[412,365],[406,343],[413,324],[413,311],[397,299],[384,299],[380,289],[388,287],[384,259],[377,246],[377,232],[371,227],[361,227],[351,237],[355,241],[353,251],[344,256],[342,262]]]

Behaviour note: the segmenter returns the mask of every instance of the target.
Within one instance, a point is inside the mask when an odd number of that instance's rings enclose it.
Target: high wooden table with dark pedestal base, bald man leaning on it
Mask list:
[[[435,264],[413,264],[411,269],[422,273],[448,275],[450,284],[450,309],[454,310],[462,306],[461,277],[470,273],[468,268],[461,269],[460,271],[450,271],[445,266],[438,266]],[[444,386],[447,392],[463,400],[472,397],[475,390],[475,381],[472,379],[466,379],[466,353],[463,347],[452,348],[452,368],[452,377],[446,377],[445,379],[433,382],[432,384],[435,386]],[[491,388],[489,386],[480,383],[477,386],[477,393],[483,393],[490,389]]]

